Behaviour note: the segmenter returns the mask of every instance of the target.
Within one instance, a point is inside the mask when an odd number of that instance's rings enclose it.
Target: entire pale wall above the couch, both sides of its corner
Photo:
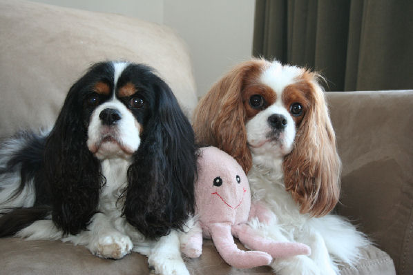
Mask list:
[[[255,0],[35,0],[113,12],[175,29],[189,46],[198,94],[251,57]]]

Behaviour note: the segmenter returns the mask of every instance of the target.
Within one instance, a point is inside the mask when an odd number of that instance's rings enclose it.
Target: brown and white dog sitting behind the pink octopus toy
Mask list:
[[[200,101],[198,143],[231,154],[248,174],[253,201],[275,214],[251,221],[263,236],[298,241],[310,256],[273,261],[277,274],[338,274],[369,241],[329,214],[340,194],[341,163],[320,76],[278,61],[252,59],[233,68]]]

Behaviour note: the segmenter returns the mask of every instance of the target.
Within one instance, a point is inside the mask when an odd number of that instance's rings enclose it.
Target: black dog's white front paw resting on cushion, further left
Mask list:
[[[102,258],[123,258],[131,252],[131,239],[123,234],[99,236],[95,254]]]

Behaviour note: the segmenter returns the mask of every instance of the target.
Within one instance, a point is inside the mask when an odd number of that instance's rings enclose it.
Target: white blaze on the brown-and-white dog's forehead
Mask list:
[[[281,65],[273,61],[271,65],[261,74],[260,81],[268,85],[277,93],[277,101],[280,101],[282,91],[291,84],[296,83],[297,77],[302,74],[302,69],[296,66]]]

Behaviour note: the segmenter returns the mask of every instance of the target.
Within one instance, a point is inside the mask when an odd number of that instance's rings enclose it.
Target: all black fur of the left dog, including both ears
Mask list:
[[[36,190],[33,207],[17,208],[0,217],[0,236],[15,234],[48,214],[64,234],[86,230],[98,211],[99,190],[106,180],[99,160],[86,145],[94,108],[85,102],[98,81],[113,89],[113,70],[109,62],[93,65],[70,88],[50,134],[28,139],[26,146],[11,156],[8,169],[0,171],[21,167],[18,192],[30,179],[35,180]],[[194,134],[169,86],[151,68],[128,65],[117,87],[128,82],[135,85],[147,104],[142,110],[131,110],[144,130],[128,168],[123,214],[142,234],[158,238],[171,228],[182,229],[194,212]],[[99,96],[104,102],[112,95]],[[122,100],[128,104],[128,99]]]

